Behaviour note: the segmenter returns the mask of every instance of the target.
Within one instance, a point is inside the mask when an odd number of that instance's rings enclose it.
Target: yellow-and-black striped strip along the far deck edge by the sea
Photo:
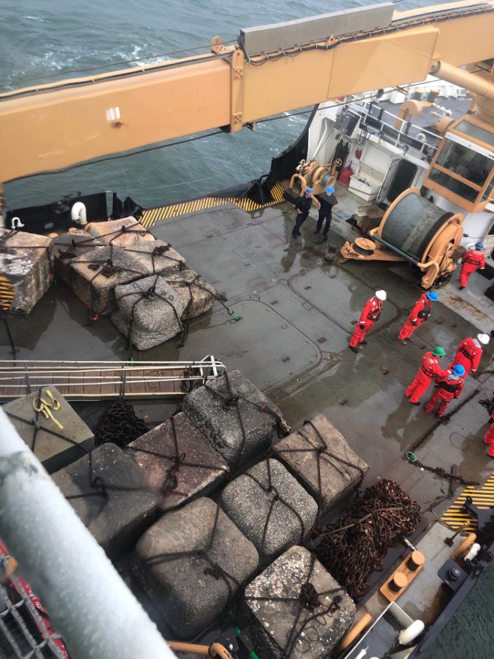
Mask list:
[[[225,204],[235,204],[235,206],[241,208],[243,211],[257,211],[259,208],[274,206],[285,200],[283,187],[279,183],[275,183],[272,187],[271,196],[274,201],[270,201],[267,204],[257,204],[250,199],[238,199],[236,197],[203,197],[202,199],[194,199],[193,201],[186,201],[181,204],[151,208],[143,212],[139,222],[141,222],[143,227],[149,228],[159,220],[176,218],[180,215],[196,213],[206,208],[215,208],[217,206],[224,206]]]

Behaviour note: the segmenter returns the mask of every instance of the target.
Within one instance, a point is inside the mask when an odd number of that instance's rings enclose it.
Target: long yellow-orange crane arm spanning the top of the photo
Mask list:
[[[183,135],[424,80],[494,57],[494,0],[394,12],[387,27],[246,57],[211,54],[0,94],[0,185]]]

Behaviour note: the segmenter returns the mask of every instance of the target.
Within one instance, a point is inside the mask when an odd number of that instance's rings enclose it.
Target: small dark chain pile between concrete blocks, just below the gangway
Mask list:
[[[93,428],[95,446],[111,442],[124,448],[128,443],[134,441],[148,428],[143,421],[137,417],[134,407],[123,400],[116,400],[97,420]]]

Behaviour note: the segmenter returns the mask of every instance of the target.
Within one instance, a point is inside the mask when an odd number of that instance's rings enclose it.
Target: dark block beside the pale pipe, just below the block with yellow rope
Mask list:
[[[115,444],[102,444],[52,478],[112,559],[154,522],[158,496],[132,456]]]

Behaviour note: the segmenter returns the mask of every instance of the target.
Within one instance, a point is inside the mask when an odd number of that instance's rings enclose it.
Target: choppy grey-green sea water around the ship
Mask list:
[[[371,4],[374,0],[0,0],[0,90],[90,75],[89,69],[138,66],[175,51],[207,46],[219,34],[235,39],[242,27],[276,23]],[[400,8],[430,4],[401,0]],[[126,60],[139,61],[122,64]],[[308,80],[310,84],[309,71]],[[293,84],[304,84],[294,80]],[[163,100],[166,103],[166,100]],[[91,163],[62,174],[5,185],[8,206],[48,203],[62,194],[97,190],[130,195],[150,207],[209,194],[258,178],[272,157],[303,130],[306,117],[259,124],[255,132],[215,135],[182,146]],[[1,136],[1,140],[7,139]],[[15,139],[15,136],[10,136]],[[0,142],[1,143],[1,142]],[[0,152],[1,157],[1,152]],[[494,570],[481,580],[440,636],[427,659],[492,659],[490,629]]]

